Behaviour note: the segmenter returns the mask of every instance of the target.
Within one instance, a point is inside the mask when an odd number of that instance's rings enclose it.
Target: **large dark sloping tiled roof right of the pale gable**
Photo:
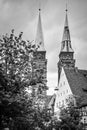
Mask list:
[[[83,97],[83,104],[87,104],[87,70],[64,68],[73,95]]]

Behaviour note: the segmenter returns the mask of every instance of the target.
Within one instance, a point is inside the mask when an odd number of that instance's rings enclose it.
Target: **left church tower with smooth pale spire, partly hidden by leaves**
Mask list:
[[[42,22],[41,22],[41,9],[39,9],[39,18],[36,32],[35,45],[37,51],[33,54],[33,71],[36,76],[40,76],[39,80],[43,83],[43,87],[39,84],[37,87],[37,93],[46,95],[47,89],[47,59],[46,59],[46,50],[44,47],[44,38],[43,38],[43,30],[42,30]],[[41,79],[40,79],[41,78]]]

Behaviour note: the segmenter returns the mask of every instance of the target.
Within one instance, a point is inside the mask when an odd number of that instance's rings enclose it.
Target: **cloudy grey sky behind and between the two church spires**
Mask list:
[[[87,69],[87,0],[0,0],[0,35],[15,29],[16,34],[23,31],[24,39],[30,41],[35,40],[38,9],[41,7],[50,95],[54,93],[58,82],[57,63],[66,3],[76,67]]]

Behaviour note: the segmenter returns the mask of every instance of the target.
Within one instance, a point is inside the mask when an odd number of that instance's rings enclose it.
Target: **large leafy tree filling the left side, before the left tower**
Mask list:
[[[0,39],[0,129],[44,129],[51,118],[45,107],[41,109],[41,101],[36,103],[35,86],[44,87],[41,74],[32,73],[37,48],[24,41],[22,34],[15,36],[12,30]],[[31,93],[26,88],[31,88]],[[41,99],[41,94],[37,98]]]

